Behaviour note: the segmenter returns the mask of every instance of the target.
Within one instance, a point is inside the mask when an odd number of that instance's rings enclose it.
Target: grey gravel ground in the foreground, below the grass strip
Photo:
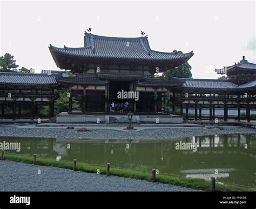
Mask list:
[[[0,191],[197,191],[169,184],[0,160]],[[41,174],[37,174],[38,169]]]

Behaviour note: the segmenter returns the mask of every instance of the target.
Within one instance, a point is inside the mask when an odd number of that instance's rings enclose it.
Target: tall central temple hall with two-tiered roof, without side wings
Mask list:
[[[70,95],[82,98],[82,112],[108,112],[112,102],[127,101],[117,98],[117,92],[122,90],[139,92],[137,102],[129,99],[132,112],[159,112],[161,97],[177,84],[156,79],[154,74],[176,68],[193,56],[193,52],[151,50],[147,37],[117,38],[91,33],[85,33],[82,48],[50,45],[49,49],[58,68],[71,70],[75,75],[59,77],[57,81],[70,90]],[[156,82],[161,85],[155,85]]]

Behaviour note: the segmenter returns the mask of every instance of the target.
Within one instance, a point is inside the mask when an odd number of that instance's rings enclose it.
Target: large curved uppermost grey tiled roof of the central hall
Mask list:
[[[119,38],[106,37],[86,33],[84,37],[84,47],[82,48],[57,48],[50,45],[51,52],[59,52],[64,55],[78,57],[96,58],[124,58],[124,59],[144,59],[144,60],[179,60],[190,59],[193,52],[189,53],[169,53],[150,49],[147,37]]]

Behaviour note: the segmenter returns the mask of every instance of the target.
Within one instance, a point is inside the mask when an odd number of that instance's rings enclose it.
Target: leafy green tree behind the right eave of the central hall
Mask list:
[[[182,51],[173,50],[176,53],[183,53]],[[167,70],[163,73],[163,77],[168,79],[169,77],[177,78],[192,78],[191,66],[186,61],[184,64],[179,65],[177,68]]]

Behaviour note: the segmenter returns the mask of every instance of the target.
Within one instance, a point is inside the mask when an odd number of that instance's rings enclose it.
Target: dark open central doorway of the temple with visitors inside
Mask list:
[[[128,105],[131,106],[131,99],[120,99],[117,97],[118,92],[123,91],[132,91],[131,82],[125,81],[110,81],[109,82],[109,105],[108,105],[108,112],[115,112],[115,113],[125,113],[130,110],[130,107],[126,107],[126,102]],[[114,107],[112,107],[112,103],[114,103]]]

